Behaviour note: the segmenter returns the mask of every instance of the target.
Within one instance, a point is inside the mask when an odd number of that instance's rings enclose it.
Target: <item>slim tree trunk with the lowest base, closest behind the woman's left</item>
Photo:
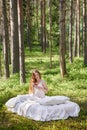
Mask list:
[[[17,0],[18,5],[18,30],[19,30],[19,61],[20,61],[20,84],[25,83],[25,58],[23,37],[23,0]]]

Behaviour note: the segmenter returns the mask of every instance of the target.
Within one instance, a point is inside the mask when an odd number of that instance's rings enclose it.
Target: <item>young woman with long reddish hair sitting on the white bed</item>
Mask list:
[[[45,93],[48,92],[46,82],[41,79],[41,74],[38,70],[32,72],[29,94],[33,94],[37,97],[44,97]]]

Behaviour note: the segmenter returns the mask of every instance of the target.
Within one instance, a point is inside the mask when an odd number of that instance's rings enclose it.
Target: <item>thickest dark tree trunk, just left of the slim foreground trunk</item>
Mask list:
[[[11,62],[12,73],[19,72],[19,40],[17,0],[10,0],[10,27],[11,27]]]

